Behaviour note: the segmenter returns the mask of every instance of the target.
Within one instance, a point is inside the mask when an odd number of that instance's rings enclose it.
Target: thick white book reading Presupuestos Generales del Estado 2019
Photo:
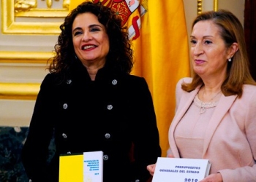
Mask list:
[[[208,159],[158,157],[152,182],[199,182],[210,168]]]

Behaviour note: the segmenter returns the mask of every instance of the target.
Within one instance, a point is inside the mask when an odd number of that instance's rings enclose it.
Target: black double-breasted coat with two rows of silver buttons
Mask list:
[[[48,164],[48,146],[56,154]],[[132,149],[132,153],[131,153]],[[161,156],[156,116],[146,80],[108,67],[91,81],[77,61],[63,82],[43,80],[22,160],[32,182],[58,181],[61,154],[103,151],[103,181],[146,181],[146,166]]]

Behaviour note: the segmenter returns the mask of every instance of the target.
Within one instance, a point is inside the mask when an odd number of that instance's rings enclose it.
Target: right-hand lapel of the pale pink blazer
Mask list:
[[[219,123],[222,122],[222,118],[230,109],[236,98],[237,95],[231,95],[227,97],[222,95],[219,98],[219,103],[217,104],[214,114],[211,116],[211,120],[208,124],[208,127],[206,128],[206,135],[203,142],[203,156],[206,154],[206,150],[208,149],[209,143],[212,136],[214,135],[215,130],[217,130]]]

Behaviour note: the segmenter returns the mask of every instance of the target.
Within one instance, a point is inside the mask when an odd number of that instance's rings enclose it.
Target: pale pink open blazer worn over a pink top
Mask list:
[[[192,92],[176,85],[176,115],[169,129],[167,154],[179,157],[174,130],[186,113],[200,87]],[[202,159],[211,161],[210,173],[221,173],[224,182],[256,181],[256,86],[244,84],[243,95],[222,95],[210,119],[203,143]],[[189,150],[189,146],[188,146]]]

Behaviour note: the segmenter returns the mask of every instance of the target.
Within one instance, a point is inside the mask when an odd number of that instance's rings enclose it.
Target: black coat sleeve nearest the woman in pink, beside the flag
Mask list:
[[[145,79],[138,80],[136,93],[132,94],[135,131],[132,133],[135,159],[132,173],[134,181],[146,181],[150,177],[146,166],[157,162],[157,157],[161,157],[161,148],[151,92]]]

